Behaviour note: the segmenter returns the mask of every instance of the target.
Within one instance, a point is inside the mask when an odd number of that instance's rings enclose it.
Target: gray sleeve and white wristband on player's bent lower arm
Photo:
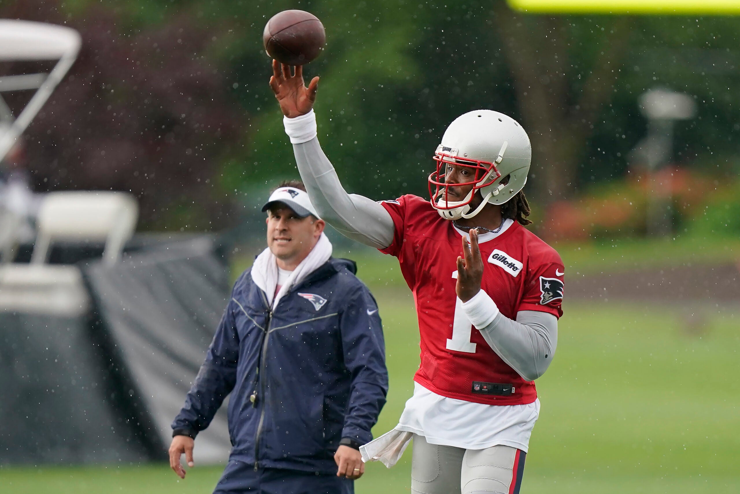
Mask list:
[[[557,318],[552,314],[520,310],[512,321],[483,290],[464,302],[462,310],[488,346],[522,378],[534,381],[550,366],[557,346]]]

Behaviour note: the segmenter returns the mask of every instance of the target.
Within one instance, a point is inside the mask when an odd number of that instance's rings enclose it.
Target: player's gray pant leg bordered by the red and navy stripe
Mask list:
[[[502,445],[466,450],[460,474],[462,494],[508,494],[516,456],[517,448]]]

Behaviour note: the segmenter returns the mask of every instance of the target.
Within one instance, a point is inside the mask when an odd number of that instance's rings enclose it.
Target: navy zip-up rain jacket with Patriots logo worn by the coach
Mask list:
[[[246,270],[173,435],[195,437],[232,393],[232,460],[336,473],[340,439],[370,441],[388,391],[377,305],[355,272],[330,258],[272,311]]]

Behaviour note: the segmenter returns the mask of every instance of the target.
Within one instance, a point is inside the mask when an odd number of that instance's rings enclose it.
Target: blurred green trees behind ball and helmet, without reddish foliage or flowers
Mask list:
[[[124,43],[170,33],[158,45],[159,67],[198,73],[177,51],[195,43],[187,49],[197,54],[193,60],[218,73],[206,92],[215,95],[214,107],[228,107],[227,121],[242,123],[227,126],[228,138],[170,139],[191,150],[192,142],[212,144],[215,167],[203,172],[223,194],[263,193],[266,182],[296,175],[261,45],[267,19],[288,8],[310,10],[326,27],[326,52],[306,66],[306,76],[321,76],[320,139],[351,192],[425,195],[445,127],[466,111],[491,108],[528,129],[528,190],[546,207],[628,173],[630,152],[645,134],[637,100],[656,86],[699,103],[697,119],[676,126],[674,161],[726,176],[740,171],[736,18],[525,16],[503,0],[75,0],[64,12],[90,27],[95,6],[115,19],[111,36]],[[167,30],[175,24],[176,33]],[[130,86],[121,84],[121,91]],[[125,94],[135,105],[146,99]]]

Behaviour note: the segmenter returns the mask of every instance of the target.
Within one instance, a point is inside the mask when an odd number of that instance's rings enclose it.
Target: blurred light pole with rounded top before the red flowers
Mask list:
[[[647,118],[647,234],[667,235],[673,227],[670,177],[657,184],[656,171],[673,153],[673,123],[693,118],[696,103],[682,93],[653,89],[640,96],[639,106]]]

